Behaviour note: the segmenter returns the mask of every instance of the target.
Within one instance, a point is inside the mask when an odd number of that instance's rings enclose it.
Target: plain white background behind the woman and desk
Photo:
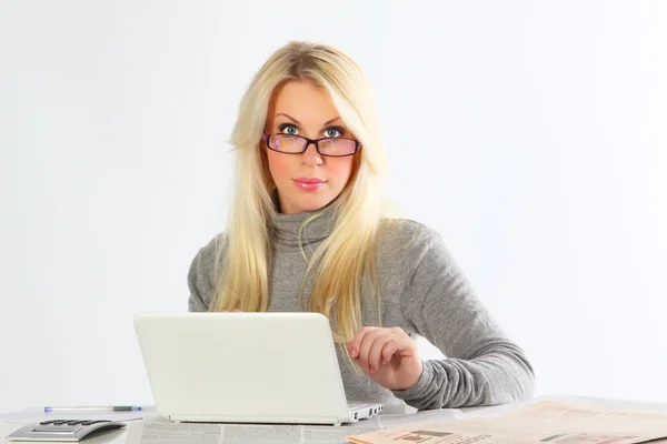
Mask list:
[[[388,195],[438,229],[537,394],[667,401],[667,2],[0,1],[0,411],[151,404],[239,99],[292,39],[370,77]]]

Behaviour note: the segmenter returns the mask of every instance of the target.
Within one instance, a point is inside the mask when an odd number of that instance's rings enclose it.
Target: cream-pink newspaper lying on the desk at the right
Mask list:
[[[667,414],[540,401],[496,416],[419,422],[348,440],[357,444],[667,443]]]

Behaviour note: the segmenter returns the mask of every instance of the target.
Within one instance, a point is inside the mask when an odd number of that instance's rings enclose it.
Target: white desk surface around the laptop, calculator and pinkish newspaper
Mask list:
[[[143,412],[142,421],[129,422],[126,431],[89,438],[83,444],[342,444],[346,436],[371,432],[395,425],[421,422],[446,421],[461,417],[485,416],[520,408],[540,400],[561,401],[598,407],[619,410],[647,410],[667,412],[667,403],[645,403],[620,400],[599,400],[579,396],[542,396],[528,402],[506,404],[492,407],[472,407],[461,410],[424,411],[414,414],[382,413],[376,418],[361,421],[349,426],[311,425],[236,425],[236,424],[175,424],[158,417],[155,411]],[[43,421],[46,414],[38,410],[0,414],[0,443],[14,427],[28,422]],[[52,417],[52,414],[50,414]],[[127,414],[126,414],[127,415]],[[71,416],[71,415],[69,415]],[[68,417],[69,417],[68,416]],[[80,416],[80,415],[79,415]],[[112,414],[108,415],[113,418]],[[72,416],[73,417],[73,416]],[[81,416],[86,417],[86,416]],[[9,423],[8,423],[9,422]]]

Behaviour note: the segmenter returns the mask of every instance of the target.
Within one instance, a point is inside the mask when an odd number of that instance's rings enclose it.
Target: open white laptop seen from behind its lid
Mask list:
[[[135,330],[172,421],[339,425],[382,410],[348,404],[319,313],[141,313]]]

